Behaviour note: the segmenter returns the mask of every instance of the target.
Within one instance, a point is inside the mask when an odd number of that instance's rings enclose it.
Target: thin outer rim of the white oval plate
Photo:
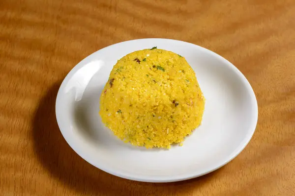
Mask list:
[[[119,45],[119,44],[122,44],[122,43],[126,43],[126,42],[134,42],[134,41],[140,41],[140,40],[166,40],[166,41],[172,41],[172,42],[182,42],[183,44],[189,44],[189,45],[193,45],[194,47],[197,47],[199,49],[202,49],[202,50],[205,50],[207,52],[209,52],[211,55],[214,55],[215,57],[219,58],[220,60],[224,61],[225,64],[230,67],[232,70],[234,70],[236,72],[236,74],[238,75],[238,77],[243,81],[243,83],[245,84],[245,87],[247,89],[247,91],[249,92],[250,94],[250,98],[254,100],[252,106],[254,106],[254,112],[253,112],[253,119],[255,119],[254,123],[252,124],[251,128],[249,128],[251,130],[251,134],[249,134],[247,140],[244,142],[244,144],[242,146],[238,146],[237,148],[239,148],[239,150],[236,151],[235,154],[233,155],[229,155],[231,156],[227,161],[225,161],[224,163],[222,164],[219,164],[218,166],[212,168],[211,170],[208,170],[208,171],[205,171],[205,172],[202,172],[202,173],[194,173],[194,172],[191,172],[191,174],[186,174],[185,176],[182,176],[182,177],[177,177],[177,175],[172,175],[171,177],[161,177],[161,179],[158,179],[158,178],[153,178],[152,176],[142,176],[142,177],[138,177],[133,174],[131,175],[128,175],[128,174],[125,174],[124,172],[116,172],[112,169],[108,169],[106,167],[102,167],[101,165],[97,164],[97,163],[93,163],[92,161],[90,161],[87,157],[84,156],[84,154],[82,153],[79,153],[78,150],[76,150],[76,147],[74,147],[73,144],[71,144],[71,142],[69,142],[69,139],[67,139],[65,137],[65,134],[64,134],[64,130],[62,130],[61,128],[61,118],[59,116],[59,108],[57,107],[58,103],[59,103],[59,97],[61,96],[61,91],[62,89],[64,88],[64,85],[66,84],[66,82],[68,82],[68,78],[70,76],[72,76],[72,73],[75,73],[75,71],[81,67],[83,67],[83,62],[88,59],[90,56],[94,56],[95,53],[99,52],[100,50],[104,50],[104,49],[107,49],[109,47],[114,47],[116,45]],[[199,176],[202,176],[202,175],[206,175],[207,173],[210,173],[210,172],[213,172],[213,171],[216,171],[218,169],[220,169],[221,167],[223,167],[224,165],[228,164],[229,162],[231,162],[234,158],[236,158],[236,156],[238,154],[241,153],[241,151],[244,150],[244,148],[249,144],[250,140],[252,139],[253,135],[254,135],[254,132],[256,130],[256,126],[257,126],[257,123],[258,123],[258,102],[257,102],[257,98],[255,96],[255,93],[254,93],[254,90],[251,86],[251,84],[249,83],[249,81],[247,80],[247,78],[243,75],[243,73],[241,73],[235,65],[233,65],[230,61],[228,61],[227,59],[225,59],[224,57],[222,57],[221,55],[217,54],[216,52],[213,52],[209,49],[206,49],[204,47],[201,47],[201,46],[198,46],[196,44],[192,44],[192,43],[189,43],[189,42],[185,42],[185,41],[180,41],[180,40],[174,40],[174,39],[166,39],[166,38],[144,38],[144,39],[134,39],[134,40],[128,40],[128,41],[123,41],[123,42],[119,42],[119,43],[116,43],[116,44],[113,44],[113,45],[110,45],[110,46],[107,46],[107,47],[104,47],[102,49],[99,49],[91,54],[89,54],[88,56],[86,56],[84,59],[82,59],[78,64],[76,64],[68,73],[67,75],[64,77],[63,81],[61,82],[60,84],[60,87],[59,87],[59,91],[58,91],[58,94],[57,94],[57,97],[56,97],[56,105],[55,105],[55,111],[56,111],[56,119],[57,119],[57,123],[58,123],[58,126],[59,126],[59,130],[63,136],[63,138],[65,139],[65,141],[67,142],[67,144],[80,156],[82,157],[84,160],[86,160],[88,163],[90,163],[91,165],[93,165],[94,167],[104,171],[104,172],[108,172],[112,175],[115,175],[115,176],[118,176],[118,177],[121,177],[121,178],[125,178],[125,179],[129,179],[129,180],[135,180],[135,181],[141,181],[141,182],[157,182],[157,183],[165,183],[165,182],[177,182],[177,181],[183,181],[183,180],[188,180],[188,179],[192,179],[192,178],[196,178],[196,177],[199,177]]]

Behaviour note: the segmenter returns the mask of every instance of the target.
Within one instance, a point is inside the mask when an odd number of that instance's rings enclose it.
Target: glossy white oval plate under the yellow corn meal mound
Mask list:
[[[154,46],[184,56],[206,98],[202,125],[182,147],[169,150],[123,143],[98,114],[100,93],[117,60]],[[56,115],[67,143],[93,166],[131,180],[172,182],[212,172],[235,158],[254,133],[258,107],[247,79],[218,54],[182,41],[140,39],[100,49],[76,65],[60,86]]]

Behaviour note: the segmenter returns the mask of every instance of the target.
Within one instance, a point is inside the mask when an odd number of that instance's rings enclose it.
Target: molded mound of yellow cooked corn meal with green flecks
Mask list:
[[[144,49],[118,60],[100,97],[100,116],[135,146],[170,148],[201,124],[205,98],[185,58]]]

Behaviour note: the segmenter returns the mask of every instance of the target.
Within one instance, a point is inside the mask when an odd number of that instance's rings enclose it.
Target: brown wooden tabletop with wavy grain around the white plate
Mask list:
[[[251,83],[257,129],[223,168],[135,182],[91,166],[61,136],[65,75],[98,49],[148,37],[217,52]],[[295,196],[295,1],[0,0],[0,195]]]

